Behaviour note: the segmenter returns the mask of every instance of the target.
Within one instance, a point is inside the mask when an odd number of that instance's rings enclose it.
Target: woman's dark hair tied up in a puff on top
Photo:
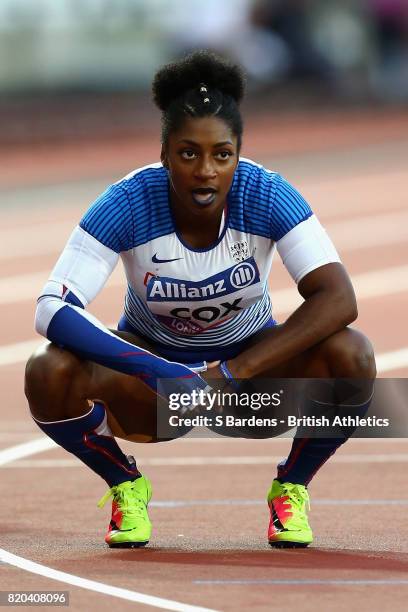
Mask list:
[[[195,51],[167,64],[153,79],[153,100],[162,111],[162,142],[186,117],[218,117],[242,141],[239,103],[245,80],[239,66],[209,52]]]

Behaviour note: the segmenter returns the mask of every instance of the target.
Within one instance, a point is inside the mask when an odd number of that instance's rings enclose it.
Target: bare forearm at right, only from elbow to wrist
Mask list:
[[[263,340],[228,361],[228,367],[236,378],[257,376],[344,329],[356,316],[350,296],[317,291],[285,323],[267,330]]]

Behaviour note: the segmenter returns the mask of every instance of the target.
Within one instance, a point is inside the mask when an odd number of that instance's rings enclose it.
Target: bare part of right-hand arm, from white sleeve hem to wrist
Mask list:
[[[268,338],[228,361],[236,378],[251,378],[279,365],[336,331],[357,317],[354,290],[340,263],[324,265],[307,274],[298,290],[304,302]]]

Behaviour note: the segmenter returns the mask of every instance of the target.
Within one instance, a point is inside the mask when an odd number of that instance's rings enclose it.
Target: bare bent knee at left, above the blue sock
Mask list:
[[[29,358],[24,377],[24,392],[34,416],[42,420],[61,415],[72,383],[80,371],[75,355],[46,344]]]

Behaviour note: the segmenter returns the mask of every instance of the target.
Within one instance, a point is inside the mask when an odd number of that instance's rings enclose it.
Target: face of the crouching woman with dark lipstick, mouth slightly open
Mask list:
[[[207,216],[226,203],[238,163],[237,137],[216,117],[188,118],[162,150],[171,200],[178,209]]]

